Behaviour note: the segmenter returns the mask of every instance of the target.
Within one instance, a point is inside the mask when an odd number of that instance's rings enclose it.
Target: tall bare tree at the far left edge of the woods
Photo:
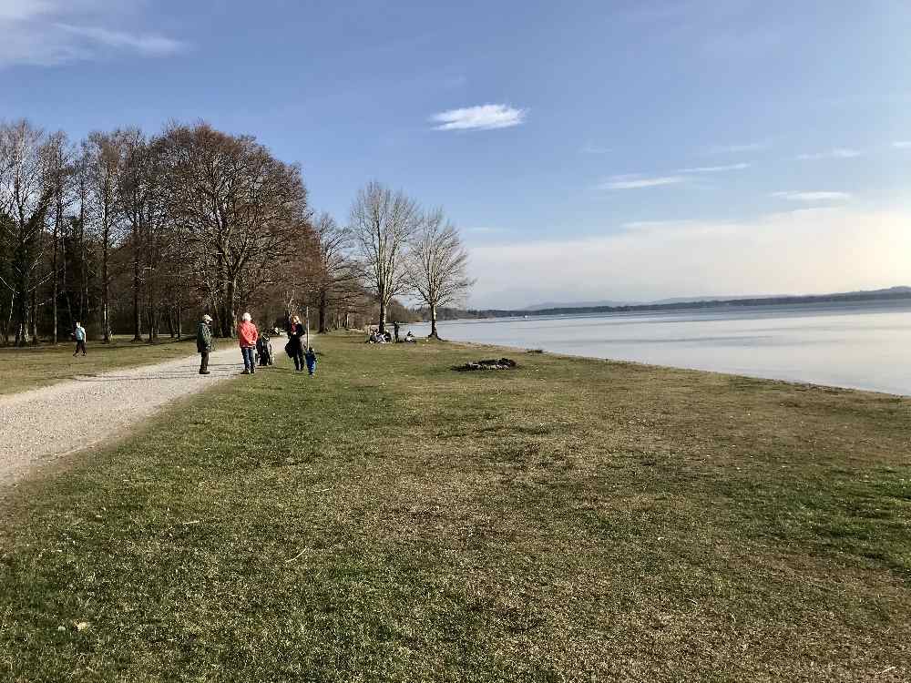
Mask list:
[[[25,119],[0,126],[0,221],[12,251],[15,343],[25,346],[35,338],[35,291],[41,284],[36,269],[44,250],[41,237],[54,189],[47,173],[46,137]],[[29,299],[32,307],[29,311]],[[36,340],[35,340],[36,341]]]

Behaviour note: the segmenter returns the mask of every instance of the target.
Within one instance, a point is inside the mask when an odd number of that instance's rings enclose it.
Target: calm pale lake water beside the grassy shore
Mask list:
[[[429,327],[410,326],[418,336]],[[439,331],[457,342],[911,395],[907,300],[445,321]]]

